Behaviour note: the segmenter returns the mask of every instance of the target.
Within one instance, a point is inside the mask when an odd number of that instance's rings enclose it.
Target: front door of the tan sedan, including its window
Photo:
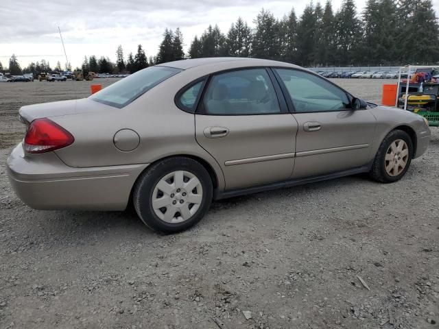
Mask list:
[[[292,178],[353,169],[368,164],[376,119],[353,110],[351,97],[318,75],[274,69],[298,122]]]

